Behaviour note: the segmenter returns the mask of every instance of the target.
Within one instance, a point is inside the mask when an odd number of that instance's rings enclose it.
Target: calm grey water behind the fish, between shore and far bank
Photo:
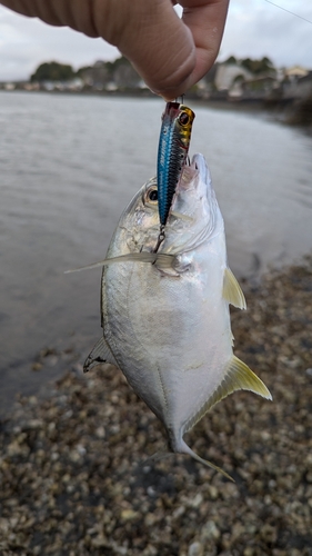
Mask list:
[[[31,369],[42,348],[70,347],[82,361],[99,338],[101,270],[63,270],[103,258],[125,203],[155,173],[162,108],[0,92],[0,414],[60,373],[53,357]],[[232,270],[254,278],[311,252],[312,139],[250,115],[195,112],[191,153],[209,161]]]

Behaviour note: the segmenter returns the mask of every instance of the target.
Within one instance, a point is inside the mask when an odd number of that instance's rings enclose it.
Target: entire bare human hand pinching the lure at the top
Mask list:
[[[23,16],[68,26],[114,44],[148,87],[172,100],[212,67],[221,43],[229,0],[0,0]]]

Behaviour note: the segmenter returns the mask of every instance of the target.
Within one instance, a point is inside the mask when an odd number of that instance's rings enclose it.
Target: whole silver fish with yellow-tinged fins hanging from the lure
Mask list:
[[[185,166],[158,252],[158,182],[150,179],[123,211],[101,279],[103,336],[84,371],[110,363],[164,425],[169,449],[232,477],[185,443],[189,431],[235,390],[272,399],[233,354],[229,304],[245,309],[228,266],[224,222],[202,155]],[[88,268],[88,267],[87,267]]]

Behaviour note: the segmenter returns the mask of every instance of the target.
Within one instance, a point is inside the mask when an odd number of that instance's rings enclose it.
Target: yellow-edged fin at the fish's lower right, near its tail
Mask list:
[[[235,390],[250,390],[263,398],[272,399],[264,383],[243,361],[233,355],[222,383],[205,404],[187,421],[184,433],[190,430],[215,404]]]

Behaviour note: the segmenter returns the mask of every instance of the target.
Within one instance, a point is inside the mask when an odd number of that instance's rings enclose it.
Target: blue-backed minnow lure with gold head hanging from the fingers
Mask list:
[[[167,102],[159,138],[157,179],[160,225],[165,226],[177,185],[187,161],[194,112],[179,102]]]

